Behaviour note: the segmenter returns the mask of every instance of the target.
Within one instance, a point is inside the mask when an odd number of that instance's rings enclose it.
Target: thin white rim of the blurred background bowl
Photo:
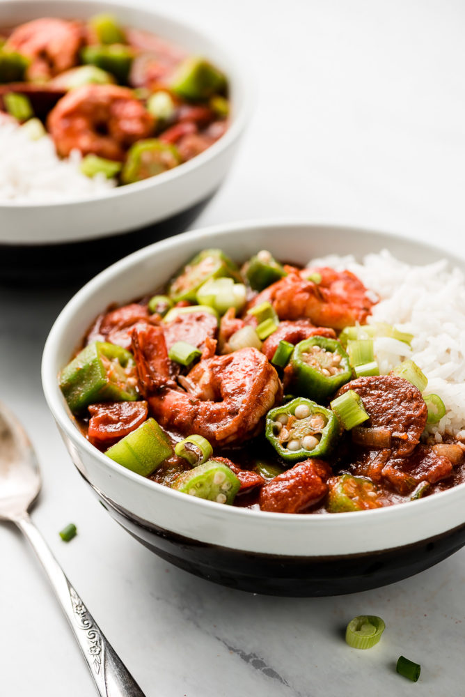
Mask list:
[[[47,5],[56,5],[58,8],[63,5],[71,4],[71,2],[72,0],[47,0]],[[7,3],[15,8],[20,8],[21,6],[30,6],[33,4],[37,4],[38,6],[40,6],[40,0],[0,0],[0,12],[2,6],[5,6]],[[162,172],[157,176],[148,177],[147,179],[143,179],[142,181],[116,186],[106,191],[97,192],[93,195],[86,194],[80,197],[63,198],[60,201],[0,200],[0,211],[3,208],[6,210],[24,208],[28,210],[35,208],[49,208],[56,210],[58,208],[68,208],[73,204],[90,204],[97,201],[111,201],[111,199],[115,198],[120,199],[122,197],[127,197],[131,194],[143,192],[147,189],[159,187],[164,183],[169,183],[170,181],[173,181],[173,179],[179,178],[184,175],[187,176],[191,171],[198,169],[199,167],[203,167],[203,164],[207,164],[207,162],[210,162],[210,160],[214,160],[217,155],[227,150],[228,147],[231,146],[238,139],[239,135],[241,135],[244,128],[246,127],[246,123],[248,122],[249,116],[252,111],[251,107],[253,90],[252,80],[249,78],[251,71],[246,70],[244,62],[241,59],[239,59],[234,54],[234,52],[232,52],[232,49],[230,49],[229,45],[226,46],[225,50],[223,48],[223,45],[221,45],[218,40],[210,38],[210,35],[207,32],[203,31],[203,29],[200,29],[197,23],[184,23],[182,20],[178,19],[176,15],[171,15],[170,13],[161,11],[159,10],[159,8],[154,9],[150,6],[143,6],[137,0],[135,4],[133,4],[131,0],[79,0],[79,6],[82,7],[83,15],[86,11],[86,6],[94,4],[101,5],[102,8],[114,8],[119,6],[120,8],[125,8],[127,10],[147,13],[148,15],[152,15],[152,17],[154,17],[155,20],[160,19],[163,22],[171,24],[175,28],[187,31],[192,37],[197,38],[203,43],[211,43],[212,45],[214,45],[214,47],[217,47],[219,51],[223,52],[229,63],[229,71],[234,74],[233,82],[239,85],[239,89],[242,94],[242,104],[239,105],[239,109],[237,109],[237,112],[235,111],[235,109],[232,110],[232,118],[230,120],[230,125],[228,125],[228,130],[226,130],[226,132],[217,141],[215,141],[210,147],[208,147],[207,150],[203,151],[203,153],[196,155],[194,158],[188,160],[187,162],[182,162],[182,164],[179,164],[178,167],[173,167],[173,169],[169,169],[166,172]],[[160,36],[161,38],[164,38],[163,35]],[[230,75],[228,75],[228,79],[231,79]]]

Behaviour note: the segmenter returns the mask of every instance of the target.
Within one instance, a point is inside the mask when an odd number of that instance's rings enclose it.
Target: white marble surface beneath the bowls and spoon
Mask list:
[[[173,11],[242,52],[258,86],[235,168],[198,225],[296,216],[463,244],[460,0],[177,0]],[[33,519],[147,697],[462,694],[465,550],[388,588],[275,599],[189,576],[109,518],[40,387],[42,345],[70,293],[0,290],[0,398],[42,464]],[[58,530],[70,521],[79,535],[64,544]],[[93,696],[47,581],[10,526],[0,526],[0,554],[0,694]],[[342,639],[359,613],[388,627],[368,652]],[[400,654],[422,664],[416,685],[395,673]]]

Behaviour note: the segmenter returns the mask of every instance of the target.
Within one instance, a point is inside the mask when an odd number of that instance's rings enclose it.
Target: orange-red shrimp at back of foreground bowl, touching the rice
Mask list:
[[[350,271],[331,268],[299,270],[285,267],[287,276],[258,293],[250,306],[268,300],[279,319],[310,319],[315,325],[339,330],[364,323],[375,303],[363,283]],[[319,274],[321,281],[308,280]]]

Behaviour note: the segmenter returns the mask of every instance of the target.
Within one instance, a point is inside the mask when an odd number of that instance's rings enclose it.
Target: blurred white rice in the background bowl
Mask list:
[[[81,154],[73,151],[61,160],[49,135],[32,140],[8,117],[0,120],[0,204],[55,203],[106,192],[116,185],[102,174],[89,178],[81,174]]]

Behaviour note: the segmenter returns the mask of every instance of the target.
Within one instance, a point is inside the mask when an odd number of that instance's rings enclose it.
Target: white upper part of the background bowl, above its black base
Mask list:
[[[193,160],[144,181],[117,187],[88,199],[61,203],[17,204],[0,201],[0,245],[52,245],[91,240],[147,226],[196,206],[226,175],[249,112],[247,71],[223,50],[221,40],[131,0],[2,0],[0,26],[36,17],[85,19],[115,14],[123,24],[152,31],[192,54],[207,56],[230,82],[232,117],[223,137]]]

